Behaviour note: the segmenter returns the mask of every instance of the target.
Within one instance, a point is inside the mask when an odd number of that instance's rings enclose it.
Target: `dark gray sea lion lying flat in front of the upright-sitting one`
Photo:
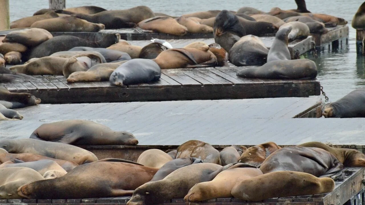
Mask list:
[[[242,69],[237,76],[264,79],[314,79],[317,76],[316,63],[310,59],[278,60],[261,67]]]

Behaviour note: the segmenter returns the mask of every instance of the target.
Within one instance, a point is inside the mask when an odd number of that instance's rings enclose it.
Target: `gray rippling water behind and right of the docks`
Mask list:
[[[346,3],[345,3],[346,2]],[[349,24],[349,45],[342,50],[324,52],[320,58],[312,59],[317,63],[317,79],[323,86],[330,101],[336,101],[352,90],[365,85],[364,57],[356,55],[356,30],[351,27],[351,20],[361,0],[307,0],[307,9],[312,13],[326,13],[346,19]],[[95,5],[105,9],[127,9],[138,5],[146,5],[154,12],[166,13],[173,16],[196,11],[237,9],[247,6],[269,11],[272,7],[281,9],[295,9],[294,0],[67,0],[66,7]],[[14,21],[42,8],[48,8],[47,0],[10,0],[10,20]]]

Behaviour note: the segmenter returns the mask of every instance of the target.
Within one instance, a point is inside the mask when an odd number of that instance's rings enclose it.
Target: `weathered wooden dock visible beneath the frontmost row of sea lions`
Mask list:
[[[216,198],[207,201],[203,201],[199,204],[204,205],[330,205],[337,204],[343,205],[345,202],[353,200],[354,197],[360,197],[358,202],[364,201],[364,186],[361,184],[361,180],[364,177],[364,167],[345,167],[344,174],[339,179],[335,180],[335,189],[330,193],[316,194],[308,196],[295,196],[295,197],[281,197],[281,198],[269,198],[262,201],[245,201],[238,198]],[[12,199],[12,200],[0,200],[1,204],[20,204],[25,203],[28,205],[36,204],[59,204],[59,205],[71,205],[71,204],[97,204],[97,205],[125,205],[131,196],[123,197],[104,197],[104,198],[85,198],[85,199],[49,199],[49,200],[37,200],[37,199]],[[350,202],[351,203],[351,202]],[[165,201],[164,204],[170,205],[183,205],[184,199],[177,198],[169,201]],[[361,205],[352,204],[351,205]]]

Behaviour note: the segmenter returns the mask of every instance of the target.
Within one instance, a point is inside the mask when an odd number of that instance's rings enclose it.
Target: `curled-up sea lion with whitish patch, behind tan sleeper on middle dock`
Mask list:
[[[94,65],[101,63],[99,56],[94,54],[77,54],[69,58],[62,69],[62,74],[68,78],[69,75],[76,71],[87,71]]]

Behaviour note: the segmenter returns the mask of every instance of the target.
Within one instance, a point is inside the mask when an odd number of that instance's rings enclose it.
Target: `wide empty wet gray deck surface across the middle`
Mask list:
[[[23,120],[1,121],[0,138],[28,138],[43,123],[84,119],[130,131],[139,145],[179,145],[192,139],[215,145],[365,144],[364,118],[291,119],[318,102],[319,97],[41,104],[18,109]]]

